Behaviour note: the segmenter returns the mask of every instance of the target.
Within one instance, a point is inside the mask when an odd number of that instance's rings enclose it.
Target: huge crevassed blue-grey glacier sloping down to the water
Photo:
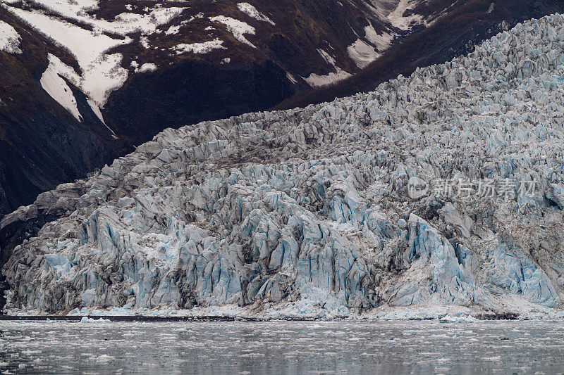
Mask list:
[[[564,297],[564,18],[302,110],[166,129],[0,223],[8,312]]]

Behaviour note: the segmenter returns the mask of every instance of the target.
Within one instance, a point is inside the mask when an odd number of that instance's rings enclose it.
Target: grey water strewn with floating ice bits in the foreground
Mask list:
[[[0,322],[0,372],[534,374],[564,322]]]

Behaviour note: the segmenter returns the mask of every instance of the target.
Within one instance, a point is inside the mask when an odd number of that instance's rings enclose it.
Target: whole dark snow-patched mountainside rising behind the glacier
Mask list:
[[[372,90],[560,3],[4,0],[0,217],[166,127]]]

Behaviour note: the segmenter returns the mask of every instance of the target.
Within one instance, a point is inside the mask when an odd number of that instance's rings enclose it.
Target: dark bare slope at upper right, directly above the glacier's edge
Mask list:
[[[424,2],[417,11],[422,14],[433,12],[443,8],[443,3],[445,1]],[[413,32],[392,46],[362,72],[327,87],[302,91],[274,109],[303,107],[357,92],[372,91],[378,84],[398,75],[410,75],[418,67],[444,63],[469,53],[475,44],[524,20],[564,12],[564,1],[558,0],[471,0],[460,3],[449,8],[448,13],[433,25]]]

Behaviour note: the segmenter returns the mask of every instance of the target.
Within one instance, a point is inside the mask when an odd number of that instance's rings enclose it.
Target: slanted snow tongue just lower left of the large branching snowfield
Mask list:
[[[68,112],[70,112],[76,120],[82,121],[82,116],[78,111],[73,91],[71,90],[71,87],[68,87],[68,84],[61,76],[66,77],[77,86],[80,82],[80,77],[78,77],[78,74],[76,74],[73,68],[49,53],[49,66],[39,81],[41,83],[41,87],[47,91],[47,94],[49,94],[51,98],[54,98],[57,103],[61,104],[63,108],[68,110]]]

